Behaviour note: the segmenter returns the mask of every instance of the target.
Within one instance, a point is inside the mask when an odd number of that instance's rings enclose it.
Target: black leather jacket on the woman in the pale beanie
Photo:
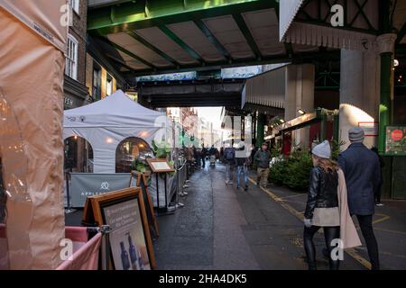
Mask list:
[[[320,167],[311,170],[309,180],[308,203],[304,217],[313,218],[315,208],[338,207],[338,174],[326,173]]]

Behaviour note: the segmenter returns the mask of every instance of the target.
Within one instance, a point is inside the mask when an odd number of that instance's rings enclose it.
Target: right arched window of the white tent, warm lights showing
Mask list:
[[[115,173],[131,172],[133,161],[146,153],[151,153],[151,148],[143,139],[136,137],[124,139],[115,150]]]

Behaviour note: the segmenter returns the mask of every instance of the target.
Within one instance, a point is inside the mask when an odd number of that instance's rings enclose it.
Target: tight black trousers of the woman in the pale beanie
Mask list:
[[[314,247],[313,237],[317,233],[320,227],[311,226],[305,227],[303,231],[303,246],[306,251],[306,257],[308,258],[309,270],[317,270],[316,265],[316,248]],[[340,265],[339,260],[333,260],[331,258],[331,251],[334,247],[331,246],[331,241],[340,238],[340,228],[338,227],[323,227],[324,238],[326,240],[326,246],[328,248],[328,264],[330,270],[338,270]]]

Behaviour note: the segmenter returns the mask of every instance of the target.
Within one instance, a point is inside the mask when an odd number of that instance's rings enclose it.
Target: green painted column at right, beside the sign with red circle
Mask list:
[[[381,54],[381,102],[379,104],[379,152],[385,152],[385,127],[391,124],[392,53]]]

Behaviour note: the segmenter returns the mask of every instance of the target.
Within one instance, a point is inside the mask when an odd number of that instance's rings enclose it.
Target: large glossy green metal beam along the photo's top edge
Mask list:
[[[154,0],[92,9],[88,31],[101,35],[274,8],[273,0]]]

